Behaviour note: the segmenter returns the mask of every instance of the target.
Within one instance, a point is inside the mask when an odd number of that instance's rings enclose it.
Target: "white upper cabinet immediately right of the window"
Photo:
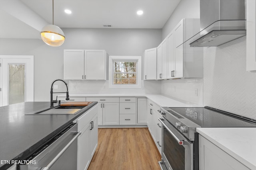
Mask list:
[[[144,52],[144,80],[156,80],[156,48]]]

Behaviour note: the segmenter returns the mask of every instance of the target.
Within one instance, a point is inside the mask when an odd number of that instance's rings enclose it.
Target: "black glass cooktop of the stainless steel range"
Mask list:
[[[180,121],[182,118],[193,121],[201,127],[256,127],[256,120],[211,107],[169,107],[169,111]],[[180,115],[176,114],[179,113]]]

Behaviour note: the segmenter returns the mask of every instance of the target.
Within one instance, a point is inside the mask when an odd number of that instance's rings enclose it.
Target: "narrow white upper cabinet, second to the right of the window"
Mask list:
[[[166,38],[157,47],[157,80],[166,79],[167,73],[167,42]]]

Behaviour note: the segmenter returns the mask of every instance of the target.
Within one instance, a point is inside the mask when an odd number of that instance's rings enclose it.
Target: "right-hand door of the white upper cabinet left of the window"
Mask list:
[[[106,51],[85,50],[85,80],[106,80]]]

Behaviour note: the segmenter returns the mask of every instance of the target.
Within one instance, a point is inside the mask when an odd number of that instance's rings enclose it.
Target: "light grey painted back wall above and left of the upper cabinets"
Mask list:
[[[64,49],[105,49],[109,55],[142,55],[145,49],[156,47],[162,37],[162,29],[62,30],[66,40],[60,47],[50,47],[41,39],[0,39],[0,55],[34,55],[35,101],[49,101],[52,81],[63,79]],[[59,89],[54,92],[66,92],[63,83],[56,84]]]

